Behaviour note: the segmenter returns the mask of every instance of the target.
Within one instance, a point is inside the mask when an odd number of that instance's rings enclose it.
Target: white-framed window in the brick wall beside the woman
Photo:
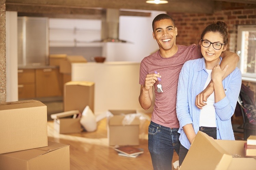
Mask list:
[[[237,40],[242,77],[256,79],[256,25],[238,26]]]

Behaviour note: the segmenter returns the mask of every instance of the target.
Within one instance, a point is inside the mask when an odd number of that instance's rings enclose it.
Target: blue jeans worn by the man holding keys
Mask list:
[[[148,126],[148,150],[154,170],[171,170],[173,150],[179,155],[178,128],[168,128],[154,122]]]

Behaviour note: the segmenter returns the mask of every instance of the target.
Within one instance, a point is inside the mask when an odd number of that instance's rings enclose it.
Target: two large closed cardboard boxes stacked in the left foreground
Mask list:
[[[69,145],[47,140],[47,108],[37,100],[0,103],[0,169],[68,170]]]

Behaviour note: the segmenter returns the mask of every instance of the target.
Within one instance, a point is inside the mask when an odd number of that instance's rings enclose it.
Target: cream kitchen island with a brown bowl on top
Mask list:
[[[139,62],[72,63],[72,81],[95,83],[94,111],[139,109]]]

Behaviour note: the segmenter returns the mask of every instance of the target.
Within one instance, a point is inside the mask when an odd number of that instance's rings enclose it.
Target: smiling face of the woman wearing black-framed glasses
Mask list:
[[[201,52],[205,59],[205,62],[218,64],[219,56],[221,56],[222,51],[225,51],[227,49],[226,44],[221,45],[224,43],[222,35],[216,32],[208,32],[203,36],[203,40],[207,40],[207,41],[200,41]],[[210,44],[210,43],[215,43],[215,44]],[[209,46],[209,47],[205,47],[205,46]],[[213,48],[213,46],[215,48]],[[218,48],[220,49],[216,50]]]

